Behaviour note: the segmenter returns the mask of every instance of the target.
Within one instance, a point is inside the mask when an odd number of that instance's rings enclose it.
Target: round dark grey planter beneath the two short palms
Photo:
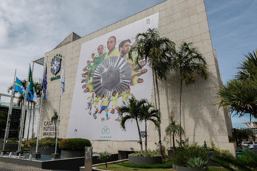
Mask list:
[[[162,157],[161,156],[128,156],[129,163],[137,163],[137,164],[162,164]]]

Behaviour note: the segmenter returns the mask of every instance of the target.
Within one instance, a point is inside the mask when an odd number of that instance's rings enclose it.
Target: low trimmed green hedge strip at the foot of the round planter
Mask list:
[[[124,166],[124,167],[130,167],[130,168],[141,168],[141,169],[168,169],[172,168],[172,161],[171,160],[162,160],[162,164],[131,164],[129,162],[115,162],[114,164]]]

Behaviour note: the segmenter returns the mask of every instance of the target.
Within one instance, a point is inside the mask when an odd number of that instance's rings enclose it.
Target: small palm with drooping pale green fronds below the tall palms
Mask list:
[[[173,142],[173,154],[176,154],[176,148],[175,148],[175,137],[181,137],[181,135],[184,135],[184,129],[180,125],[176,125],[176,121],[173,120],[173,111],[170,112],[170,123],[165,129],[165,133],[167,136],[172,136],[172,142]]]

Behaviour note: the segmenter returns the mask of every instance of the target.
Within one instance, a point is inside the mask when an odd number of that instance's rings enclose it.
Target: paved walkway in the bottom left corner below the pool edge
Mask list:
[[[65,170],[45,170],[31,166],[23,166],[20,164],[0,162],[0,171],[65,171]]]

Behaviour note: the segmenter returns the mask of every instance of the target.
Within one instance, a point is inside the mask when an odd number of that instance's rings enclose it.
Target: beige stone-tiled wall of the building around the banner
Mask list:
[[[81,44],[157,12],[159,12],[158,30],[160,35],[170,38],[176,45],[182,41],[194,42],[194,45],[200,49],[208,63],[208,80],[205,81],[196,77],[193,84],[188,87],[183,85],[182,87],[181,119],[182,127],[185,131],[183,139],[189,137],[190,144],[198,142],[200,145],[206,141],[208,146],[210,146],[211,141],[214,141],[216,147],[229,149],[232,154],[235,153],[235,144],[229,143],[228,141],[228,135],[232,135],[230,115],[227,111],[218,109],[217,105],[215,105],[217,101],[215,93],[222,86],[222,78],[219,73],[216,51],[212,48],[204,0],[167,0],[45,53],[45,62],[46,56],[49,56],[47,62],[48,87],[47,99],[44,100],[43,104],[40,129],[41,137],[44,137],[44,122],[51,120],[53,115],[52,109],[58,109],[59,106],[61,82],[60,80],[50,81],[50,78],[53,77],[50,63],[53,56],[55,54],[65,56],[65,92],[61,97],[59,136],[66,137]],[[57,75],[61,75],[61,70]],[[159,81],[158,86],[162,112],[162,142],[164,146],[170,147],[172,146],[171,138],[167,137],[165,141],[163,141],[163,138],[166,136],[164,131],[169,123],[168,115],[171,111],[174,111],[175,120],[179,123],[179,75],[170,72],[167,80]],[[153,92],[152,101],[154,102]],[[148,127],[148,148],[156,149],[154,143],[158,143],[158,141],[158,132],[154,130],[154,124],[150,122]],[[91,140],[91,143],[95,152],[102,152],[104,150],[117,152],[118,150],[140,149],[136,141]],[[130,147],[133,147],[133,149]]]

